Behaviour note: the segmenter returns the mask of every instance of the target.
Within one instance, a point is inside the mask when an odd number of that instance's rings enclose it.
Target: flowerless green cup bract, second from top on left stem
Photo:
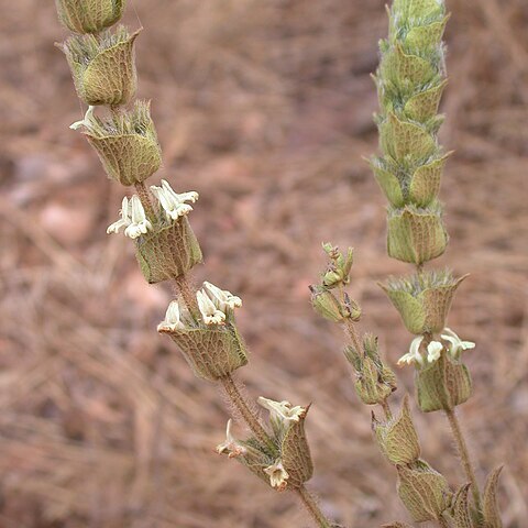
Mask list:
[[[134,42],[139,34],[131,35],[120,25],[113,34],[75,35],[59,45],[81,101],[114,107],[132,100],[138,88]]]

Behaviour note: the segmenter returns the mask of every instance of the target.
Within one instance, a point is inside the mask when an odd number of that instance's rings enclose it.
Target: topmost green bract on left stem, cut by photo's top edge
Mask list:
[[[121,19],[125,0],[55,0],[58,19],[75,33],[99,33]]]

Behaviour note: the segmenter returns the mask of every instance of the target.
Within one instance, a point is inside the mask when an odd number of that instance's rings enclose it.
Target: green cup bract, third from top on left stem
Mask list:
[[[162,165],[162,150],[146,101],[136,101],[130,111],[106,120],[91,118],[84,133],[108,176],[121,185],[144,182]]]

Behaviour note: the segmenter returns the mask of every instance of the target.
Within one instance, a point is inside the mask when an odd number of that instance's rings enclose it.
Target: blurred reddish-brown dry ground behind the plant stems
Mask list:
[[[461,408],[483,480],[507,469],[505,526],[528,526],[528,11],[526,0],[448,1],[450,86],[441,139],[457,154],[441,198],[451,244],[435,266],[472,276],[451,316],[474,397]],[[228,413],[156,323],[124,237],[107,237],[123,189],[68,125],[84,110],[54,42],[52,1],[0,0],[0,527],[297,528],[309,519],[217,457]],[[383,0],[132,0],[140,97],[153,100],[165,177],[198,190],[197,280],[244,299],[249,393],[314,403],[311,488],[338,521],[407,520],[372,442],[339,329],[308,285],[321,241],[356,249],[351,290],[389,361],[404,330],[376,280],[409,271],[385,253],[384,198],[361,160]],[[129,243],[128,243],[129,242]],[[396,398],[413,391],[400,370]],[[416,406],[415,406],[416,407]],[[441,415],[416,411],[425,457],[462,482]],[[244,433],[238,426],[239,436]]]

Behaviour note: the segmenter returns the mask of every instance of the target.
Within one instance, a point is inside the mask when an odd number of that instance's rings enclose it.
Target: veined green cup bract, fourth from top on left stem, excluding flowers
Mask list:
[[[136,240],[136,257],[148,284],[180,277],[202,261],[200,244],[186,216],[154,223]]]

